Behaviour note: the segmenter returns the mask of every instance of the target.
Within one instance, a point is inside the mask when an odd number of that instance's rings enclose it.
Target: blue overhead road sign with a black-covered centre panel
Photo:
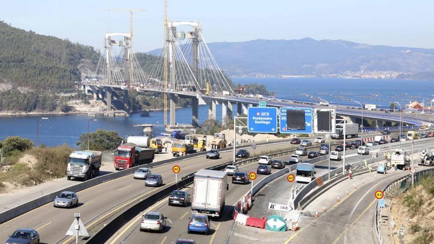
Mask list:
[[[289,113],[287,111],[290,110]],[[303,120],[304,112],[304,120]],[[289,119],[287,118],[289,114]],[[280,133],[310,134],[312,133],[312,115],[310,107],[281,107],[280,108]]]

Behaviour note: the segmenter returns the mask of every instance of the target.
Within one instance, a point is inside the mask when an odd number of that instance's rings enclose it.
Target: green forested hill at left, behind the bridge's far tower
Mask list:
[[[91,46],[38,35],[0,22],[0,83],[32,90],[71,91],[78,67],[94,70],[99,53]]]

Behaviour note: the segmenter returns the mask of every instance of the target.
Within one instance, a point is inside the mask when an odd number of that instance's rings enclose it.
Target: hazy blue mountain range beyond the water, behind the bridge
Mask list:
[[[434,80],[434,49],[345,40],[257,39],[212,42],[218,65],[232,76],[337,76]],[[157,55],[160,50],[150,51]]]

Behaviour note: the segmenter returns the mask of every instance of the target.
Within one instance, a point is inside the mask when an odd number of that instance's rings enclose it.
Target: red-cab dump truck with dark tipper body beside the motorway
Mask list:
[[[114,151],[114,169],[124,170],[152,163],[154,157],[154,149],[140,147],[135,143],[128,142],[118,146]]]

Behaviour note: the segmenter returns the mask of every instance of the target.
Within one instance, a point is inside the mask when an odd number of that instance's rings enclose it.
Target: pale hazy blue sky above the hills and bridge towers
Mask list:
[[[163,0],[1,0],[0,20],[43,35],[101,48],[106,32],[129,32],[134,49],[162,47]],[[433,0],[169,0],[169,19],[200,20],[207,42],[344,39],[434,48]]]

